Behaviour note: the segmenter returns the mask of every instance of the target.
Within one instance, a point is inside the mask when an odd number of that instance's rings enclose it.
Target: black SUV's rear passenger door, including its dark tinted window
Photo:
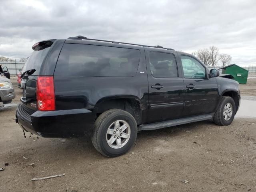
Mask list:
[[[176,52],[146,50],[149,113],[148,122],[180,118],[184,106],[184,83],[178,73]]]

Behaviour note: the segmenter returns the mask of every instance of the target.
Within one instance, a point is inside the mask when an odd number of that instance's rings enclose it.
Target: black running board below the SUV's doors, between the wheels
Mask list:
[[[186,118],[162,121],[157,123],[142,124],[142,125],[139,125],[138,131],[162,129],[166,127],[172,127],[176,125],[182,125],[186,123],[192,123],[192,122],[203,121],[203,120],[212,120],[212,114],[198,115],[193,117],[186,117]]]

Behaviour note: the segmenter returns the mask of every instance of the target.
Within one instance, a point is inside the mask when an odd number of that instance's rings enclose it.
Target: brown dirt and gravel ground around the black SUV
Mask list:
[[[256,79],[240,89],[256,96]],[[13,104],[18,88],[16,94]],[[89,137],[64,143],[28,133],[24,138],[15,110],[0,110],[0,192],[256,191],[256,118],[235,118],[226,127],[203,121],[144,131],[127,154],[106,158]]]

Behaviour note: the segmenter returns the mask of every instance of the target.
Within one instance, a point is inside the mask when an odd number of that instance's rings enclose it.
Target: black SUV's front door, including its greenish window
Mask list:
[[[218,86],[216,78],[208,78],[205,66],[196,58],[181,55],[185,106],[183,116],[209,114],[218,104]]]

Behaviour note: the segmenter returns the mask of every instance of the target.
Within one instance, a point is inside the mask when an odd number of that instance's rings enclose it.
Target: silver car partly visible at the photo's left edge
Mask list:
[[[15,92],[10,79],[0,76],[0,102],[7,104],[14,98]]]

